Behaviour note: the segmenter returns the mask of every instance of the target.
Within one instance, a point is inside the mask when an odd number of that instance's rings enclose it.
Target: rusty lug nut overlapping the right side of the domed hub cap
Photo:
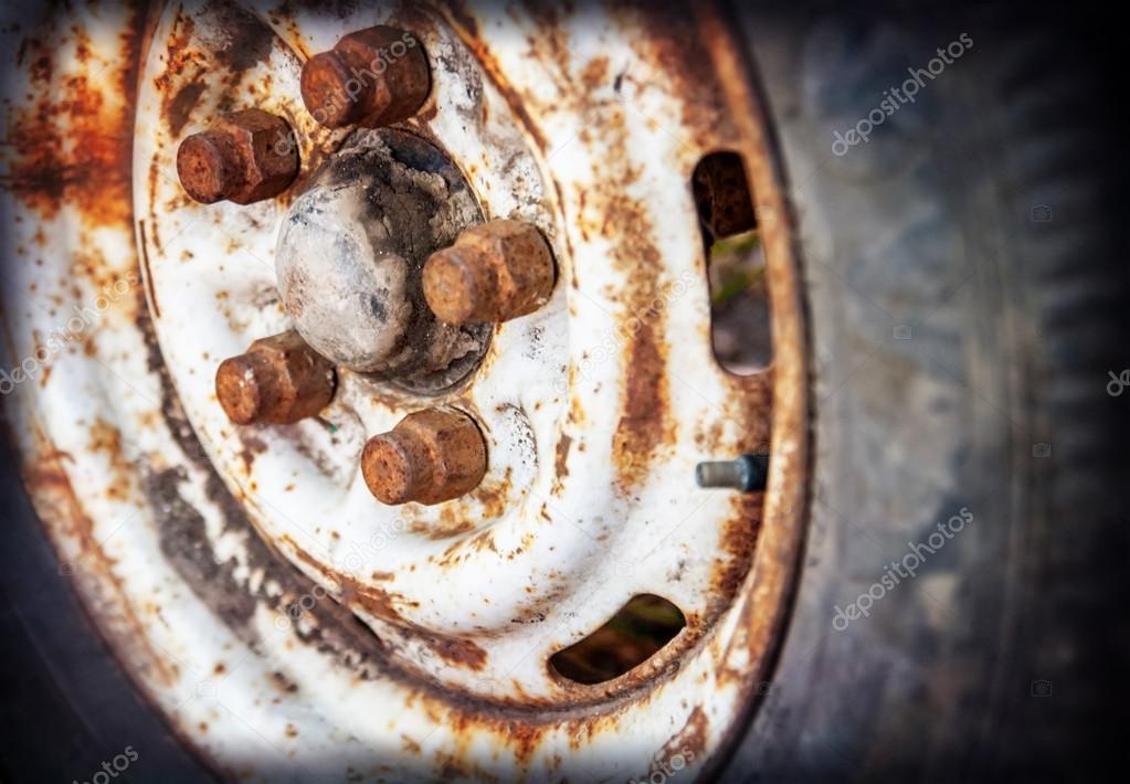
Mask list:
[[[424,297],[449,324],[508,321],[541,307],[554,288],[554,256],[541,233],[519,220],[463,232],[424,265]]]

